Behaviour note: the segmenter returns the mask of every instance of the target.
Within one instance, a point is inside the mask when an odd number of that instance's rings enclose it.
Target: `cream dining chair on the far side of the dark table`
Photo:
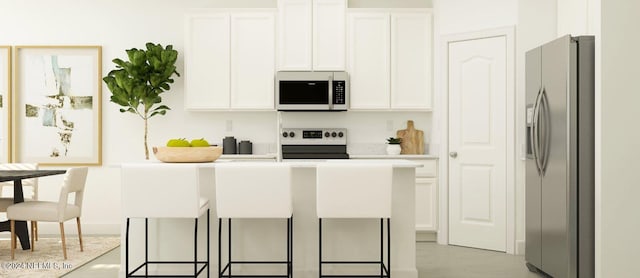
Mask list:
[[[37,163],[0,163],[0,170],[38,170]],[[10,192],[13,192],[13,182],[0,183],[0,213],[7,212],[7,208],[13,205],[13,193],[4,194],[5,187],[10,188]],[[24,201],[38,200],[38,178],[26,179],[22,181],[22,187],[24,192]],[[25,190],[31,188],[31,190]],[[30,194],[29,194],[30,193]],[[38,222],[33,222],[32,236],[38,240]]]

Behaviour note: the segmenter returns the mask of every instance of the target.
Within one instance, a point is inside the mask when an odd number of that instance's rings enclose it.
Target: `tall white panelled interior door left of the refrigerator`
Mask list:
[[[507,38],[450,42],[449,243],[506,251]]]

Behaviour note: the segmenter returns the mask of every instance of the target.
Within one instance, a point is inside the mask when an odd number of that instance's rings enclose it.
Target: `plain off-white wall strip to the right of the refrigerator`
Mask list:
[[[596,277],[637,277],[640,246],[640,2],[601,1],[600,225]],[[598,235],[599,234],[599,235]]]

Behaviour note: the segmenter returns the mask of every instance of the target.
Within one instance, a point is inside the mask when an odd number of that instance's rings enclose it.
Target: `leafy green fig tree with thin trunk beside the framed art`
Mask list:
[[[147,144],[149,118],[165,115],[168,106],[162,104],[161,94],[169,91],[176,71],[178,51],[172,45],[147,43],[146,49],[126,50],[128,61],[116,58],[116,69],[102,78],[111,91],[111,102],[120,105],[120,112],[133,113],[144,121],[144,155],[149,159]]]

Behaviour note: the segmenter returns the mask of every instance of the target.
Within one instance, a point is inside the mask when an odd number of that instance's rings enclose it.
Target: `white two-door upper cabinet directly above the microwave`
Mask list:
[[[278,0],[278,69],[344,70],[346,0]]]

